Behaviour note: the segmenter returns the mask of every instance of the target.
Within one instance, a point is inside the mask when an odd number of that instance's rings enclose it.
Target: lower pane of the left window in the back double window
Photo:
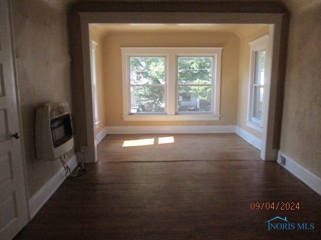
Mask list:
[[[130,112],[164,112],[165,86],[131,86]]]

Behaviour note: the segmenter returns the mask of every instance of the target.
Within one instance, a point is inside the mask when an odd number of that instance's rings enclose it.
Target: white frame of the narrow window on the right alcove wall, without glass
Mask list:
[[[256,66],[257,66],[257,58],[256,53],[260,51],[265,51],[267,54],[267,46],[268,46],[268,34],[261,36],[254,41],[249,42],[250,45],[250,71],[249,71],[249,90],[248,90],[248,106],[247,106],[247,119],[246,125],[251,127],[259,132],[263,130],[263,113],[264,113],[264,92],[265,92],[265,82],[263,85],[256,84]],[[267,58],[265,58],[265,63],[267,62]],[[266,66],[265,66],[266,68]],[[264,79],[266,79],[266,69],[264,69]],[[254,117],[254,90],[255,88],[263,88],[263,102],[262,102],[262,117],[261,120]]]

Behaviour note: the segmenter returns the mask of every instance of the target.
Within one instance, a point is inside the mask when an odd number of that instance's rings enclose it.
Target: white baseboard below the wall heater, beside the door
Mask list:
[[[70,170],[75,169],[78,165],[76,154],[74,154],[68,161],[67,165]],[[62,166],[59,171],[50,178],[50,180],[29,200],[30,219],[32,219],[40,208],[47,202],[47,200],[54,194],[60,184],[66,179],[66,170]]]

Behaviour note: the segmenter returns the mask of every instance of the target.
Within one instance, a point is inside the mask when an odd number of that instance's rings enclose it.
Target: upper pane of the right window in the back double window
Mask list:
[[[179,83],[212,83],[213,57],[178,57]]]

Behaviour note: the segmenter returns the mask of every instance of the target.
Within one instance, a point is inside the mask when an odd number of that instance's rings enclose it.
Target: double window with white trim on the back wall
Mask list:
[[[221,47],[121,47],[124,120],[219,120]]]

